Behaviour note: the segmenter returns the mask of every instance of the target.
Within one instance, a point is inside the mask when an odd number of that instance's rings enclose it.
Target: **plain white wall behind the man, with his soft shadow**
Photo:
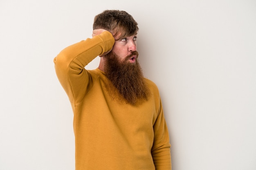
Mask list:
[[[255,170],[255,0],[0,0],[0,170],[74,170],[73,114],[53,59],[91,37],[105,9],[139,23],[173,170]]]

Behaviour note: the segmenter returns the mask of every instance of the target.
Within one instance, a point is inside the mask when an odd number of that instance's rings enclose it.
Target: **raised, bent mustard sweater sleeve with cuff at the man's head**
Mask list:
[[[80,41],[62,50],[55,58],[55,70],[72,107],[78,105],[90,90],[92,81],[85,66],[98,55],[111,50],[115,39],[108,31]]]

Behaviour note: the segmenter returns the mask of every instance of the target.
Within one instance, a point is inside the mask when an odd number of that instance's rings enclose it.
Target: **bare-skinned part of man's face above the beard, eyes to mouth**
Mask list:
[[[137,50],[136,40],[137,35],[120,38],[115,41],[112,52],[119,57],[120,61],[127,60],[127,62],[135,63],[137,55],[132,54],[132,52]]]

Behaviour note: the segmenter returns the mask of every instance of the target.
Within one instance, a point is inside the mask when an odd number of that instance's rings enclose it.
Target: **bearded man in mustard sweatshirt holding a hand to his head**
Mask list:
[[[62,50],[56,74],[74,112],[76,170],[170,170],[157,86],[137,61],[137,22],[125,11],[94,19],[92,38]],[[97,56],[99,67],[85,70]]]

